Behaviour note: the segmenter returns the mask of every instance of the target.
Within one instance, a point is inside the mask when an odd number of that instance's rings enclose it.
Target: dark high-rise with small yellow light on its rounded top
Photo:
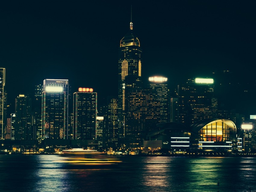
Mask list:
[[[31,124],[31,98],[27,95],[19,94],[15,99],[15,139],[32,139]]]

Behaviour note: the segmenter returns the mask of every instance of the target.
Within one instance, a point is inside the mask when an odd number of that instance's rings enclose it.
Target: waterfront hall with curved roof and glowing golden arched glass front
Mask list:
[[[145,148],[152,148],[150,142],[155,141],[162,141],[162,148],[174,151],[185,151],[189,148],[232,150],[236,147],[236,142],[233,142],[236,137],[236,125],[229,119],[209,119],[194,123],[190,127],[177,122],[160,123],[157,126],[160,130],[147,135]]]

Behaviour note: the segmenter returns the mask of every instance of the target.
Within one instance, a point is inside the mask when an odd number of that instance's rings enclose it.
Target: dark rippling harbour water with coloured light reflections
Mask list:
[[[0,155],[1,192],[217,192],[218,180],[220,192],[256,191],[256,158]]]

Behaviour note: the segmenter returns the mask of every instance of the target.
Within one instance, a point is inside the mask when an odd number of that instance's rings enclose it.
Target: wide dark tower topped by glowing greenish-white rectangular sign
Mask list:
[[[214,99],[213,79],[188,79],[178,85],[179,122],[190,125],[213,118],[217,101]]]

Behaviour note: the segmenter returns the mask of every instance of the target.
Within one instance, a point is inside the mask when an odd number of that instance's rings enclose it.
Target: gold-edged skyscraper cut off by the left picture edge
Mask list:
[[[0,68],[0,138],[3,139],[4,132],[4,105],[5,105],[5,68]]]

